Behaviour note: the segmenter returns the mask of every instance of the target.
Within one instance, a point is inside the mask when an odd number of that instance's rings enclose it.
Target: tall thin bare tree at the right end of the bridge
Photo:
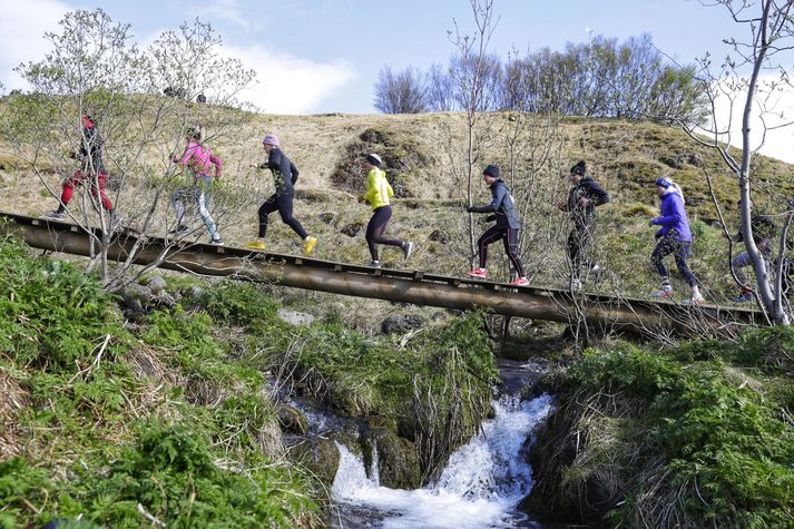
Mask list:
[[[706,126],[688,119],[678,119],[690,137],[700,145],[717,149],[722,159],[732,173],[736,175],[739,196],[741,231],[744,244],[753,263],[757,278],[757,298],[762,308],[774,323],[788,324],[791,314],[787,310],[783,292],[783,263],[786,248],[786,232],[790,225],[793,206],[792,197],[780,197],[784,205],[780,212],[785,217],[785,229],[778,244],[776,280],[773,282],[768,273],[768,264],[753,237],[753,195],[761,187],[753,178],[752,158],[764,145],[767,126],[773,116],[782,117],[774,108],[773,95],[781,90],[791,92],[792,84],[785,67],[780,62],[784,52],[794,49],[794,0],[714,0],[708,6],[724,7],[733,21],[745,28],[746,37],[731,37],[724,40],[731,49],[725,61],[716,71],[710,55],[700,60],[703,87],[710,106],[712,119]],[[718,106],[727,107],[728,116],[738,106],[742,110],[742,149],[738,156],[732,154],[732,123],[721,119]],[[761,123],[761,139],[756,144],[751,137],[754,118]],[[776,127],[790,126],[784,123]],[[704,138],[698,133],[706,133]]]

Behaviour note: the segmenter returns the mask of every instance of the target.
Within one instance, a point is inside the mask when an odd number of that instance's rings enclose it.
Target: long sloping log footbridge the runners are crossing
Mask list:
[[[0,212],[4,226],[36,248],[75,255],[91,255],[91,236],[73,224]],[[96,244],[96,243],[95,243]],[[733,334],[765,322],[759,311],[734,306],[688,306],[617,297],[586,292],[571,293],[539,286],[428,274],[422,271],[372,268],[293,255],[256,252],[228,246],[171,242],[120,232],[112,235],[108,258],[147,265],[163,259],[163,268],[243,281],[373,297],[399,303],[444,308],[484,308],[509,316],[565,323],[586,322],[601,330],[631,330],[648,334]]]

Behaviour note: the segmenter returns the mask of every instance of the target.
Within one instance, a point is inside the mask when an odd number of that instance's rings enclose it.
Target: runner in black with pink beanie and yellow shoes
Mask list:
[[[290,158],[281,149],[278,138],[268,134],[262,140],[263,148],[267,153],[267,161],[259,166],[252,166],[258,169],[271,169],[276,188],[276,193],[271,196],[259,207],[259,237],[247,244],[249,248],[265,249],[265,235],[267,234],[267,216],[273,212],[278,212],[282,222],[290,226],[303,239],[303,255],[312,255],[314,246],[317,244],[316,237],[310,237],[303,229],[301,223],[292,216],[293,200],[295,198],[295,183],[298,170]]]

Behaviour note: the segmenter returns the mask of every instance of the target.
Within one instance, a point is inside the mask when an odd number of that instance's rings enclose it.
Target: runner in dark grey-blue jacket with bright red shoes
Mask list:
[[[477,242],[480,267],[470,271],[469,275],[472,277],[488,277],[488,270],[486,268],[488,245],[501,239],[504,243],[504,252],[513,268],[516,268],[517,277],[510,284],[526,286],[529,284],[529,280],[527,280],[523,265],[518,256],[518,231],[521,227],[521,223],[518,221],[510,189],[504,184],[504,180],[499,178],[499,166],[487,166],[482,172],[482,177],[488,187],[490,187],[493,199],[486,206],[469,206],[465,210],[468,213],[491,213],[496,216],[497,224],[488,228]]]

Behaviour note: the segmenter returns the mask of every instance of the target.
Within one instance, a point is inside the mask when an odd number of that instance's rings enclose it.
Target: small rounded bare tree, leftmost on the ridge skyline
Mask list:
[[[375,108],[383,114],[420,114],[428,110],[424,76],[414,68],[396,74],[384,66],[375,84]]]

